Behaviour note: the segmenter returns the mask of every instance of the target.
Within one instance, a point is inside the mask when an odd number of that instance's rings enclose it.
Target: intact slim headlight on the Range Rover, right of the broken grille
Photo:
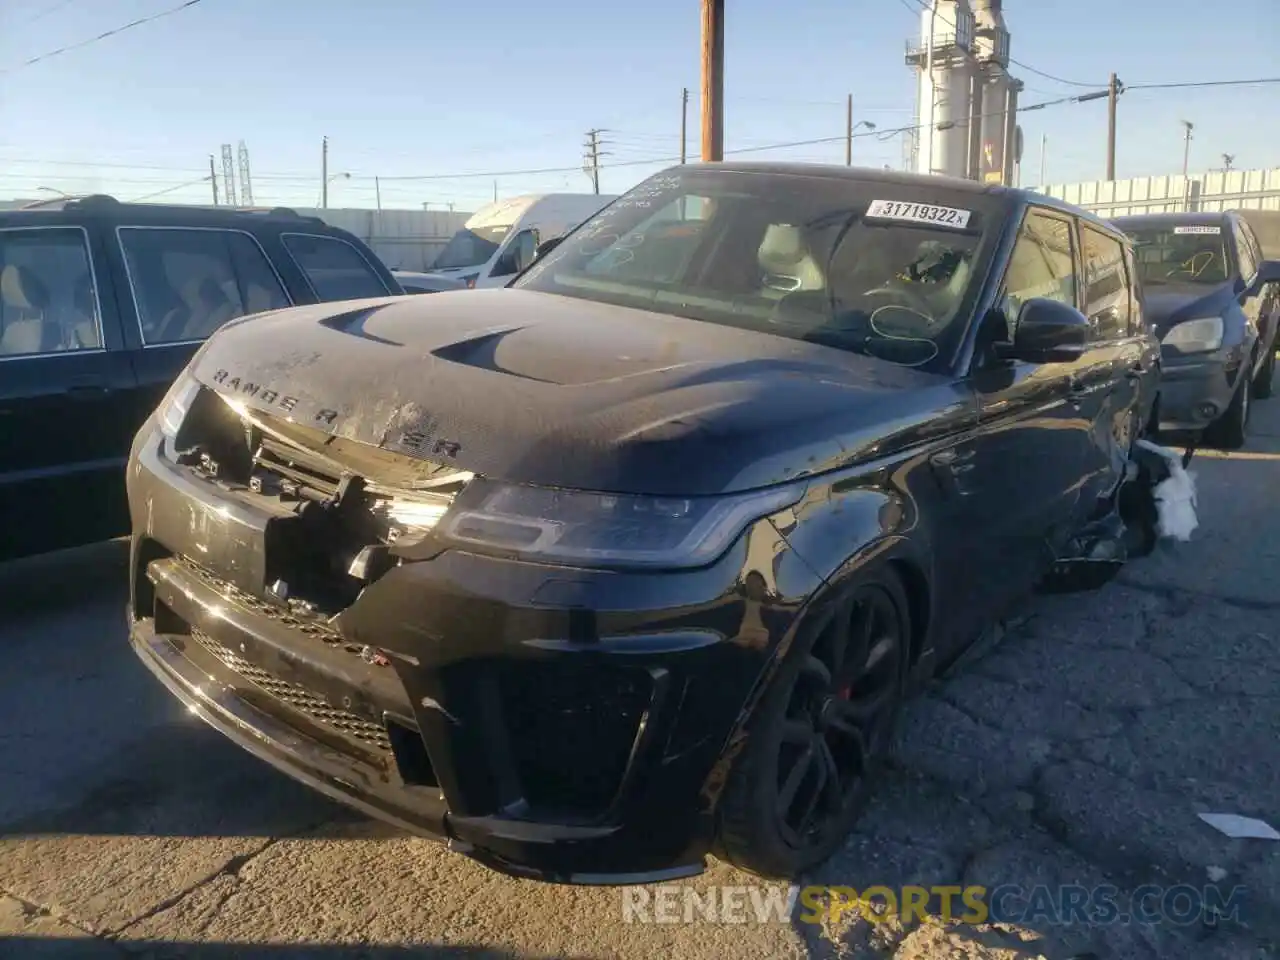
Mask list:
[[[731,497],[632,497],[476,479],[436,532],[529,559],[604,567],[699,567],[748,524],[796,503],[803,484]]]

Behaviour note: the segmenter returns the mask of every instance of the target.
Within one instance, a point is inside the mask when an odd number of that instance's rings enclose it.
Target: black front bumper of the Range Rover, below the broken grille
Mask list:
[[[746,599],[745,543],[678,575],[445,552],[374,582],[335,626],[264,599],[278,509],[154,440],[128,480],[133,649],[233,741],[506,873],[703,869],[722,754],[799,605]]]

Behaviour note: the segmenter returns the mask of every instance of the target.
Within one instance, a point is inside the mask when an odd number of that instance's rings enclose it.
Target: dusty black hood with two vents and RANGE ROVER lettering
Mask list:
[[[502,480],[662,495],[881,456],[965,396],[831,347],[513,289],[246,317],[192,371],[334,436]]]

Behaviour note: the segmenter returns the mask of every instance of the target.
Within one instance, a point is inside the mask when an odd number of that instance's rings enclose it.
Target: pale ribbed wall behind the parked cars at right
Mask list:
[[[1280,210],[1280,168],[1190,177],[1137,177],[1032,187],[1102,216],[1213,210]]]

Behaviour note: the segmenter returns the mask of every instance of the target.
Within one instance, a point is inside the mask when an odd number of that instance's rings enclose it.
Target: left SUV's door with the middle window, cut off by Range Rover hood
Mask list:
[[[129,411],[136,430],[218,328],[292,301],[250,233],[120,225],[114,241],[128,284],[119,301],[138,383]]]

